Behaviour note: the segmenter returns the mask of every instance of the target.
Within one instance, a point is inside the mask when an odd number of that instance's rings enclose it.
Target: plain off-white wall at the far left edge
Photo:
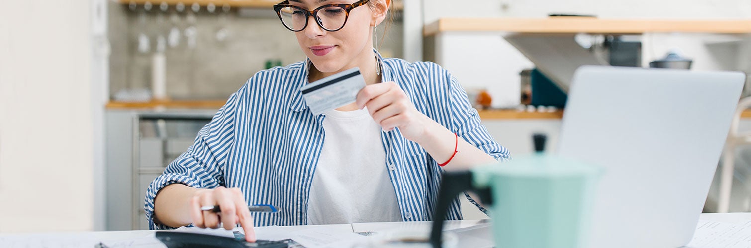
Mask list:
[[[0,232],[92,230],[88,0],[0,7]]]

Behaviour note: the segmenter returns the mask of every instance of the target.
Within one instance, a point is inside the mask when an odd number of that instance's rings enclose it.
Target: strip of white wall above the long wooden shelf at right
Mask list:
[[[407,0],[409,1],[409,0]],[[748,0],[422,0],[424,19],[439,17],[543,17],[548,13],[602,18],[737,19],[751,17]]]

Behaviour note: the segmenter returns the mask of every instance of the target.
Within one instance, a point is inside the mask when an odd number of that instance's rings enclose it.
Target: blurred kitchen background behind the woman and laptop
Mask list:
[[[0,3],[0,232],[147,229],[146,186],[229,95],[305,59],[277,1]],[[382,55],[448,69],[512,155],[532,133],[556,150],[581,65],[751,73],[747,0],[394,0],[390,19]],[[737,117],[704,211],[751,211]]]

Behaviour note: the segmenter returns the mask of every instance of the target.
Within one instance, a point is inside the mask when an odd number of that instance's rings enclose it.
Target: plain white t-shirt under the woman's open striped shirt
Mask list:
[[[324,112],[326,133],[308,202],[308,224],[401,221],[381,126],[367,109]]]

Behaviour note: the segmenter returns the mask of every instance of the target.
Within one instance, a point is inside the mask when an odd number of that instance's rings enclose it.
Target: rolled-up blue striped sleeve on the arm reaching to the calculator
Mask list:
[[[159,190],[167,185],[185,184],[204,189],[225,185],[225,163],[234,143],[235,109],[243,88],[232,94],[209,124],[201,129],[193,145],[167,165],[164,172],[149,185],[143,205],[149,229],[173,229],[154,222],[154,199]]]

